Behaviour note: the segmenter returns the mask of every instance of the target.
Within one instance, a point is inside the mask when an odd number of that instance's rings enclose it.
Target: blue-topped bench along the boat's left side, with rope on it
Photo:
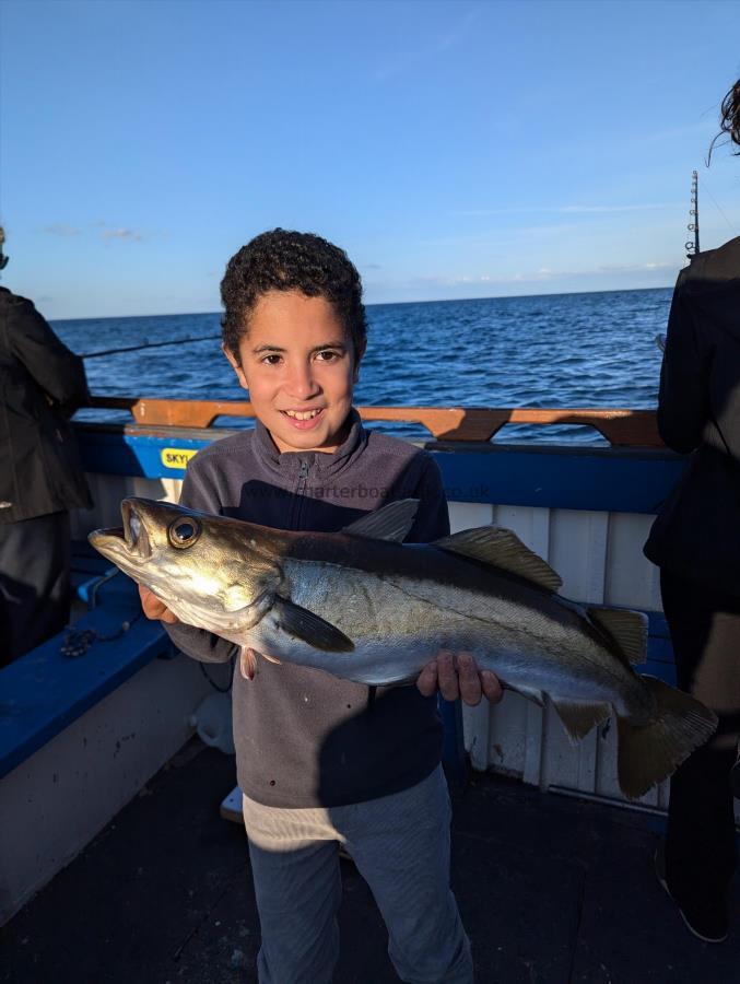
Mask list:
[[[0,778],[141,667],[173,653],[160,622],[142,617],[130,578],[86,544],[72,555],[73,590],[90,609],[74,623],[83,652],[64,655],[61,632],[0,670]]]

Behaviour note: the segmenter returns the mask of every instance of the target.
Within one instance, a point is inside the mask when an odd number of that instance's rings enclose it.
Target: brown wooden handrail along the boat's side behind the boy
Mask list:
[[[128,410],[138,424],[209,427],[219,417],[254,417],[248,400],[168,400],[94,396],[92,406]],[[419,423],[437,441],[488,442],[507,423],[582,424],[619,447],[660,447],[654,410],[483,407],[357,407],[363,420]]]

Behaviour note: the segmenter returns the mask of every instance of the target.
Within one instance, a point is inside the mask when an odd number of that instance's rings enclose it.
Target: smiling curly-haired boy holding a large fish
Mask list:
[[[334,531],[364,512],[418,499],[409,537],[449,530],[432,458],[366,432],[352,409],[365,351],[360,276],[318,236],[274,230],[228,262],[223,349],[257,425],[202,450],[180,502],[279,529]],[[204,661],[235,646],[177,623],[142,589],[150,618]],[[441,654],[418,688],[366,688],[251,654],[234,673],[238,782],[260,914],[260,984],[332,976],[341,897],[337,842],[348,846],[389,929],[403,981],[472,981],[470,946],[449,890],[449,800],[433,699],[501,699],[493,673]]]

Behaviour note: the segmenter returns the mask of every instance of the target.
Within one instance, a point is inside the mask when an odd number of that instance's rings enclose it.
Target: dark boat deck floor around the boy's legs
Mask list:
[[[233,784],[233,758],[192,739],[0,930],[0,981],[255,981],[245,836],[219,817]],[[729,940],[695,940],[653,874],[658,818],[491,775],[454,803],[453,883],[479,984],[740,979],[740,886]],[[396,981],[366,885],[350,863],[343,877],[336,981]]]

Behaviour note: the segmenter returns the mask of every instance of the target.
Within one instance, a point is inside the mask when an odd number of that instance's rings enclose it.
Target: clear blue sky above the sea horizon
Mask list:
[[[50,318],[215,311],[265,229],[369,303],[661,286],[740,235],[740,2],[0,2],[2,282]]]

